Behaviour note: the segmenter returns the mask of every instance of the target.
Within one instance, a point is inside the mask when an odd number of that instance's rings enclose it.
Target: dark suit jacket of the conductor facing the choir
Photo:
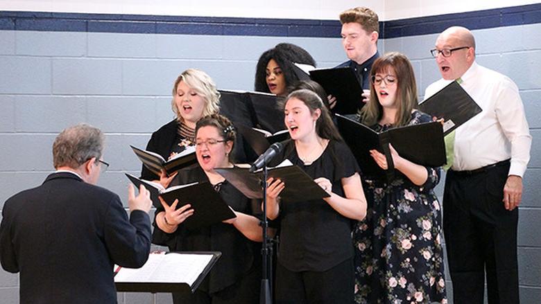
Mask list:
[[[20,272],[21,303],[117,303],[113,265],[141,267],[151,246],[148,214],[130,219],[119,196],[55,172],[6,201],[3,269]]]

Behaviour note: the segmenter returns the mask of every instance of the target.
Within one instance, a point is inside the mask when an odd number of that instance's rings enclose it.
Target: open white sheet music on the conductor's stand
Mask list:
[[[143,267],[121,268],[117,283],[187,283],[192,286],[212,260],[212,254],[151,253]]]

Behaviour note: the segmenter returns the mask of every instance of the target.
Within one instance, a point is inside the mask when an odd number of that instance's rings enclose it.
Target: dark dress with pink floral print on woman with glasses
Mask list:
[[[429,121],[413,111],[409,124]],[[388,126],[372,128],[381,132]],[[353,232],[355,303],[447,303],[441,208],[433,193],[440,168],[427,172],[422,186],[398,171],[390,184],[363,177],[368,213]]]

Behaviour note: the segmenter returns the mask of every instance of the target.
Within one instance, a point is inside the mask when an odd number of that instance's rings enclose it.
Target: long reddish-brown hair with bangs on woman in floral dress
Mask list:
[[[415,75],[413,67],[408,57],[402,53],[392,52],[377,58],[370,70],[370,79],[376,73],[386,73],[390,69],[395,71],[397,80],[396,102],[397,113],[395,117],[395,127],[407,125],[411,120],[411,111],[418,108],[417,84],[415,84]],[[361,122],[365,125],[375,125],[383,117],[383,107],[377,98],[374,83],[370,82],[370,101],[365,105],[361,112]]]

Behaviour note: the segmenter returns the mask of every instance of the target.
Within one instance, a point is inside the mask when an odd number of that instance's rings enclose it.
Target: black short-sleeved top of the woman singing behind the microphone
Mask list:
[[[309,166],[298,157],[295,143],[286,143],[279,163],[289,159],[314,179],[332,182],[332,192],[344,197],[341,179],[359,172],[357,161],[345,143],[329,141],[325,151]],[[286,185],[287,187],[287,185]],[[325,271],[353,256],[353,221],[335,211],[323,199],[280,202],[280,248],[278,262],[291,271]]]

